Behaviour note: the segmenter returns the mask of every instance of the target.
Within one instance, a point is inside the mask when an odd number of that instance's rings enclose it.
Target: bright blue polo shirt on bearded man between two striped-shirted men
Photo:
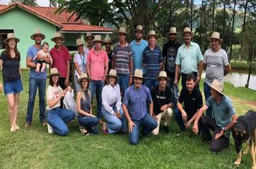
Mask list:
[[[137,43],[135,40],[133,40],[130,43],[132,47],[132,59],[133,59],[133,69],[132,73],[134,74],[135,69],[142,69],[143,74],[145,74],[146,70],[144,69],[142,65],[142,54],[145,47],[147,47],[147,41],[142,39],[140,43]]]

